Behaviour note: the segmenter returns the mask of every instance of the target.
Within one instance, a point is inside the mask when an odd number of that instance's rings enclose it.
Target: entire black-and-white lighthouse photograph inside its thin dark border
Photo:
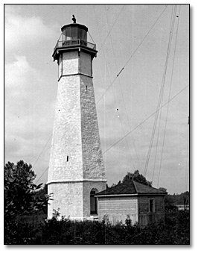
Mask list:
[[[190,113],[190,4],[4,4],[4,245],[190,246]]]

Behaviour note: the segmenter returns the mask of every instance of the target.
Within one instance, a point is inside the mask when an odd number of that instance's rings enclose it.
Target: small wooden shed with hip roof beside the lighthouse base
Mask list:
[[[136,181],[125,181],[95,194],[98,199],[98,219],[109,218],[112,225],[125,222],[130,216],[132,223],[141,226],[156,223],[165,218],[164,197],[167,193]]]

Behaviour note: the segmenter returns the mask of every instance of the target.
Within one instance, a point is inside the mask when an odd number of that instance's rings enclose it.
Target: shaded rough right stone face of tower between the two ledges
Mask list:
[[[80,75],[83,178],[106,179],[92,78]]]

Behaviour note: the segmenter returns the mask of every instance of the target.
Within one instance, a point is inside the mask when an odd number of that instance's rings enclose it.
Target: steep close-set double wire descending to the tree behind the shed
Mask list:
[[[149,146],[148,153],[147,153],[147,160],[146,160],[145,167],[144,167],[144,176],[147,175],[147,168],[148,168],[150,154],[151,154],[151,150],[152,150],[152,146],[153,146],[153,139],[154,139],[155,132],[156,132],[156,124],[157,124],[158,117],[159,117],[159,107],[162,104],[162,99],[163,99],[163,94],[164,94],[165,79],[166,79],[166,74],[167,74],[167,65],[168,65],[168,60],[170,57],[170,48],[171,48],[171,43],[172,43],[172,38],[173,38],[173,27],[174,27],[174,21],[175,21],[174,14],[176,14],[176,7],[173,10],[173,20],[171,19],[171,22],[170,22],[170,33],[169,33],[169,40],[168,40],[168,45],[167,45],[165,68],[164,68],[164,73],[163,73],[163,77],[162,77],[162,86],[161,86],[161,90],[160,90],[160,94],[159,94],[159,101],[158,101],[157,108],[156,108],[157,111],[156,111],[156,116],[154,119],[153,131],[152,131],[151,140],[150,140],[150,146]]]

